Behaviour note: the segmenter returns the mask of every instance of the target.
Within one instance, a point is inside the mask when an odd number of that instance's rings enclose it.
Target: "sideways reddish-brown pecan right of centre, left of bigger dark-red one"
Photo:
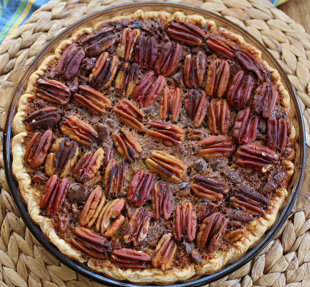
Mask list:
[[[198,142],[203,157],[226,157],[236,151],[228,135],[209,135]]]

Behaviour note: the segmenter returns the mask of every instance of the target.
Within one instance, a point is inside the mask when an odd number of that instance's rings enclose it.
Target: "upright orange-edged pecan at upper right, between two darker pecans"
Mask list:
[[[227,61],[215,59],[208,67],[206,93],[208,96],[221,98],[226,92],[229,81],[230,66]]]

